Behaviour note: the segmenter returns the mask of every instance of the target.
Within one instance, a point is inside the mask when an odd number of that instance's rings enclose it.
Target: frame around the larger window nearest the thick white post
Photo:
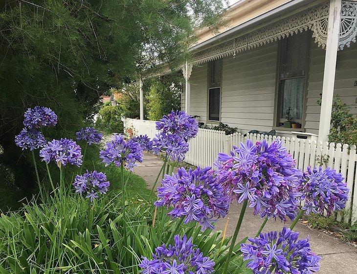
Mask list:
[[[301,123],[301,129],[303,130],[305,128],[305,118],[306,118],[306,102],[307,102],[307,93],[308,93],[308,83],[309,83],[309,68],[310,68],[310,54],[311,54],[311,31],[306,31],[303,32],[305,35],[308,37],[308,42],[307,42],[307,47],[306,47],[306,54],[305,54],[305,61],[306,61],[306,67],[304,69],[305,73],[304,75],[300,76],[291,76],[291,77],[281,77],[281,61],[282,61],[282,54],[283,54],[283,41],[278,42],[278,48],[277,48],[277,61],[276,61],[276,77],[275,77],[275,100],[274,100],[274,120],[273,120],[273,129],[278,129],[278,130],[288,130],[291,131],[293,129],[291,128],[285,128],[283,125],[280,125],[283,123],[283,121],[286,121],[286,118],[280,118],[280,112],[282,109],[282,90],[283,86],[282,83],[284,80],[289,80],[289,79],[296,79],[296,78],[304,78],[304,84],[303,84],[303,102],[302,102],[302,118],[301,119],[295,119],[295,122]],[[300,34],[300,33],[299,33]],[[291,36],[286,37],[284,39],[289,39]],[[283,120],[283,121],[282,121]]]

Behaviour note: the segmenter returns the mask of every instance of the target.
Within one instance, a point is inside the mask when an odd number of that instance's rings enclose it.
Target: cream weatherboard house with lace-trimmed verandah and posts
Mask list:
[[[208,126],[327,141],[335,94],[357,114],[356,36],[357,1],[241,0],[198,33],[186,64],[159,74],[182,71],[182,110]],[[284,127],[287,111],[301,128]]]

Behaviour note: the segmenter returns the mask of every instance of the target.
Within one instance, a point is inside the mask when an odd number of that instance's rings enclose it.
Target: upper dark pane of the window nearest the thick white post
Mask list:
[[[280,78],[305,75],[308,32],[295,34],[282,40]]]

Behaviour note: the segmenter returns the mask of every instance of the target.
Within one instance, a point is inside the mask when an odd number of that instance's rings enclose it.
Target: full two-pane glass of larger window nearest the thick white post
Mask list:
[[[281,41],[278,86],[278,126],[282,125],[290,107],[293,121],[304,118],[304,93],[308,66],[309,33],[303,32]]]

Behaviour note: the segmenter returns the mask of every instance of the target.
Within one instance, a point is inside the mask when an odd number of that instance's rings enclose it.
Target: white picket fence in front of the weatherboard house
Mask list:
[[[134,129],[135,135],[146,134],[150,138],[155,137],[158,131],[155,128],[155,121],[136,120],[126,118],[124,127]],[[283,145],[289,153],[296,159],[297,168],[305,170],[307,166],[318,166],[334,168],[342,173],[346,178],[347,186],[350,189],[349,202],[346,212],[352,214],[337,214],[338,221],[354,224],[357,221],[357,187],[354,187],[357,180],[357,154],[356,146],[340,143],[316,142],[305,139],[294,139],[289,137],[263,136],[260,134],[250,134],[244,136],[240,133],[225,135],[223,131],[210,129],[199,129],[197,137],[189,140],[189,151],[185,161],[195,166],[209,166],[216,160],[217,154],[224,152],[228,154],[233,145],[239,147],[240,142],[251,139],[253,142],[267,139],[268,143],[274,140],[283,141]],[[351,208],[352,206],[352,208]]]

